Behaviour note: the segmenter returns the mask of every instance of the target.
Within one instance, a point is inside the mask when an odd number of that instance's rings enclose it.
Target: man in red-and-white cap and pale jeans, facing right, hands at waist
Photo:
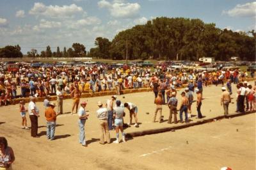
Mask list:
[[[86,102],[81,102],[81,107],[79,108],[77,114],[79,116],[78,120],[78,127],[79,127],[79,143],[82,144],[82,146],[87,146],[86,144],[86,139],[85,139],[85,133],[84,133],[84,124],[85,121],[87,120],[87,117],[89,114],[86,114],[85,112],[85,107],[86,107]]]

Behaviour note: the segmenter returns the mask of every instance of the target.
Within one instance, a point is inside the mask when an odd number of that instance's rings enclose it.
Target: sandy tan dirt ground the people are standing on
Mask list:
[[[233,90],[236,91],[234,86]],[[181,91],[178,92],[179,101]],[[202,114],[205,118],[223,114],[220,95],[220,86],[204,88]],[[235,98],[235,94],[232,97]],[[42,102],[36,103],[41,115],[38,119],[40,138],[30,137],[29,130],[20,128],[19,105],[0,107],[0,136],[6,137],[14,150],[16,160],[13,169],[220,169],[224,166],[255,169],[255,113],[175,132],[134,137],[127,139],[127,143],[100,145],[95,111],[97,102],[106,102],[108,98],[110,96],[81,98],[81,101],[88,102],[86,111],[90,114],[85,125],[87,148],[79,144],[76,114],[58,116],[56,140],[48,141]],[[167,106],[163,109],[164,122],[152,123],[155,109],[152,92],[121,95],[118,99],[138,106],[140,127],[132,126],[126,128],[125,132],[174,125],[166,122],[169,115]],[[236,100],[232,102],[230,113],[236,110]],[[63,111],[70,112],[72,100],[64,100],[63,105]],[[195,107],[194,103],[194,115]],[[191,118],[192,122],[196,121],[195,117]],[[27,119],[30,126],[28,115]],[[128,114],[124,121],[129,121]],[[111,141],[115,140],[113,130],[111,138]]]

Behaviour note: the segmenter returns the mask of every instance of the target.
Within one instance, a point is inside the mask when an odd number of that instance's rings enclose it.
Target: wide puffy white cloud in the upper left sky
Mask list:
[[[33,8],[29,11],[29,14],[36,16],[43,15],[51,18],[69,18],[81,12],[84,12],[83,8],[76,4],[70,4],[69,6],[45,6],[43,3],[35,3]]]

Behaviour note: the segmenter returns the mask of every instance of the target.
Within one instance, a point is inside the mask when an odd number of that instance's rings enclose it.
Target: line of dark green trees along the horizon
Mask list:
[[[202,57],[221,61],[239,57],[242,60],[255,61],[255,40],[254,30],[248,33],[234,32],[220,29],[213,23],[206,24],[200,19],[157,17],[149,20],[147,24],[121,31],[112,41],[97,37],[96,47],[87,54],[83,44],[73,43],[72,48],[64,48],[63,51],[57,48],[56,52],[51,52],[51,47],[47,46],[40,55],[35,49],[31,49],[28,56],[192,61],[198,61]],[[3,57],[3,49],[0,49],[0,57]],[[19,45],[14,48],[15,55],[18,55],[17,50]]]

